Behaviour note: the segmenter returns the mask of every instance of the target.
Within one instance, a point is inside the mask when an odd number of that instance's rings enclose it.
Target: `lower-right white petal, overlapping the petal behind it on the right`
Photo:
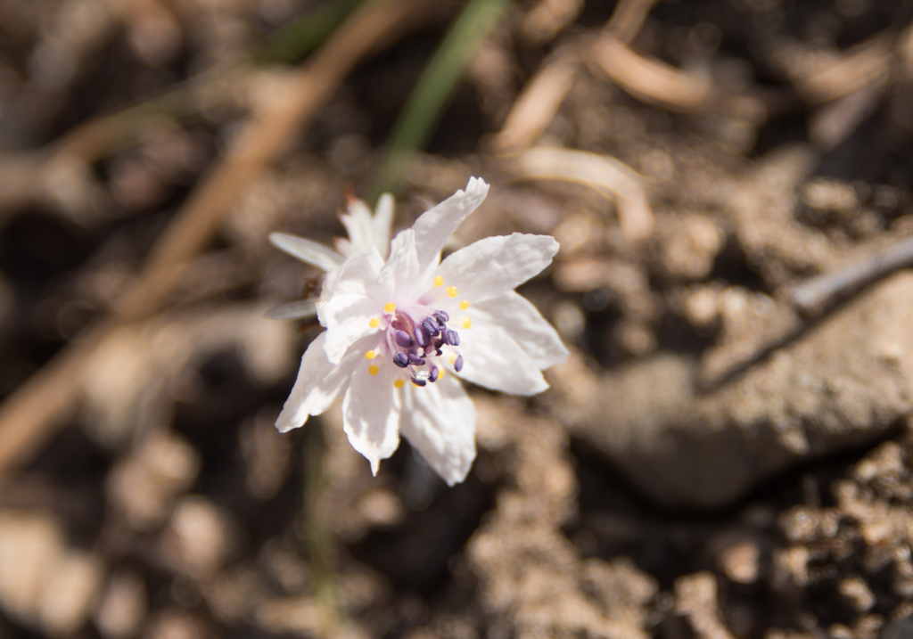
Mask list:
[[[463,356],[459,376],[493,391],[534,395],[549,387],[542,373],[507,330],[479,318],[459,331],[456,348]]]

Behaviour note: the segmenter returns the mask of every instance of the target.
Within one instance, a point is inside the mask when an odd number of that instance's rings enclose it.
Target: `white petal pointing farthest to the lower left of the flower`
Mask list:
[[[298,379],[276,420],[276,427],[281,433],[304,425],[310,415],[326,411],[349,385],[354,367],[364,359],[364,351],[370,348],[369,345],[364,349],[353,348],[352,353],[339,364],[332,364],[323,351],[326,335],[325,332],[320,333],[301,357]]]

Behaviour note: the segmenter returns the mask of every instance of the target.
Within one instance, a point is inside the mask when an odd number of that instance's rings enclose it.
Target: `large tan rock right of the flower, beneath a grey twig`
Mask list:
[[[913,412],[913,273],[900,272],[738,377],[657,353],[598,376],[550,372],[556,415],[657,502],[715,508],[804,460],[887,435]]]

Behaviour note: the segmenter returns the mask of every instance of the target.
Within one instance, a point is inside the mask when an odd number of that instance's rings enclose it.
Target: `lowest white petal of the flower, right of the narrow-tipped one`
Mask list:
[[[452,375],[404,393],[400,432],[449,486],[476,458],[476,407]]]

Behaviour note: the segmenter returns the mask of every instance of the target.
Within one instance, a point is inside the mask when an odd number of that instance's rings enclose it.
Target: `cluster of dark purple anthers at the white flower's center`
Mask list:
[[[436,382],[443,370],[437,365],[444,354],[444,346],[459,346],[459,334],[447,326],[449,316],[443,310],[428,312],[394,310],[387,325],[387,347],[394,364],[409,373],[416,386]],[[437,363],[436,363],[437,362]],[[457,354],[453,361],[456,372],[463,368],[463,356]]]

